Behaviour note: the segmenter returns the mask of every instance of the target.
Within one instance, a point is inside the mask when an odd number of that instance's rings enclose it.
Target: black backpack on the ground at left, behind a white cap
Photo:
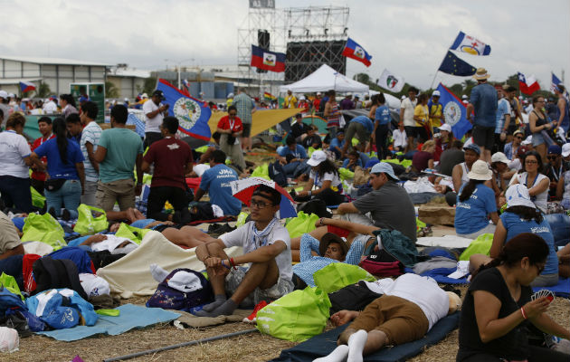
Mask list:
[[[54,288],[68,288],[77,291],[81,298],[87,300],[87,294],[81,287],[79,280],[79,271],[77,271],[77,266],[71,260],[52,259],[50,256],[43,256],[33,262],[32,267],[33,278],[36,284],[33,294]]]

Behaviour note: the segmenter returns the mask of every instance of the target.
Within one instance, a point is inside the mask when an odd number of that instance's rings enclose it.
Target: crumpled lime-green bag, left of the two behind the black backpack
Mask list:
[[[53,250],[66,246],[62,225],[51,214],[28,214],[22,228],[24,242],[42,242],[51,245]]]

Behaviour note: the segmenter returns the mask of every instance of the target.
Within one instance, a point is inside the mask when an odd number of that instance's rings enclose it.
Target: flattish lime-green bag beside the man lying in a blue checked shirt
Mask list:
[[[358,265],[333,262],[313,274],[315,285],[326,293],[332,293],[358,281],[375,281],[374,275]]]

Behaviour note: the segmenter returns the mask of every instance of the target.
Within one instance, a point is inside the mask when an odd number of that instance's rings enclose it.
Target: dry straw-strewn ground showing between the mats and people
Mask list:
[[[263,161],[271,161],[274,156],[265,154],[249,156],[248,159],[258,165]],[[439,228],[434,230],[433,236],[453,233],[452,228]],[[462,295],[467,287],[461,287]],[[124,300],[123,303],[144,305],[146,298]],[[570,300],[556,298],[548,314],[570,328]],[[128,331],[119,336],[100,336],[86,338],[76,342],[60,342],[52,338],[33,335],[20,341],[20,350],[12,354],[0,354],[0,361],[14,362],[47,362],[71,361],[79,355],[84,361],[102,361],[110,357],[124,356],[145,349],[161,348],[191,340],[219,336],[235,331],[252,329],[253,326],[245,323],[229,323],[218,327],[204,329],[176,329],[168,323],[158,324],[147,329]],[[328,329],[332,328],[328,326]],[[234,338],[221,339],[191,347],[177,348],[165,352],[151,354],[130,359],[132,361],[267,361],[278,357],[280,351],[291,348],[293,342],[271,338],[253,332]],[[419,361],[454,361],[458,348],[458,330],[444,338],[431,348],[426,348],[422,354],[410,359]]]

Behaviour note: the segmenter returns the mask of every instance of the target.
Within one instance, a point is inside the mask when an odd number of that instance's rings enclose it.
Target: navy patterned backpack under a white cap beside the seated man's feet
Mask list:
[[[178,271],[187,271],[194,274],[198,278],[201,288],[195,289],[194,291],[184,292],[170,287],[168,285],[168,281],[170,281]],[[195,307],[202,306],[212,301],[214,301],[212,286],[210,285],[210,281],[205,279],[201,272],[186,268],[178,268],[171,271],[166,276],[165,280],[158,284],[157,291],[155,291],[152,297],[147,301],[147,307],[162,308],[164,310],[190,311]]]

